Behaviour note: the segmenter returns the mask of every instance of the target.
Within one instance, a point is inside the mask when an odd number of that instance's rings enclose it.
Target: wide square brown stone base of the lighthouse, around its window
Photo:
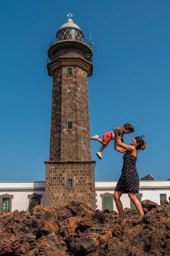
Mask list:
[[[72,201],[96,208],[95,161],[50,161],[46,164],[45,204],[65,206]],[[73,178],[73,187],[68,187]]]

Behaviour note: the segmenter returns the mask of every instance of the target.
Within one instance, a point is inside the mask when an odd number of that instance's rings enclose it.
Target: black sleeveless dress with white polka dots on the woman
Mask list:
[[[136,168],[137,158],[130,151],[126,151],[123,156],[124,163],[121,176],[117,182],[115,191],[124,193],[139,193],[139,176]]]

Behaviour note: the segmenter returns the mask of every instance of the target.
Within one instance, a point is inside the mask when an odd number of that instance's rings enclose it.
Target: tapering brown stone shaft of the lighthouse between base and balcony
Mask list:
[[[87,71],[76,65],[53,72],[50,161],[55,160],[91,160]]]

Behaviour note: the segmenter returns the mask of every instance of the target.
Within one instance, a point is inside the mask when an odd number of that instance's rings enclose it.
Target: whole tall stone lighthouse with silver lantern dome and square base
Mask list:
[[[53,89],[45,204],[65,206],[77,201],[95,209],[87,83],[93,72],[92,49],[70,17],[51,41],[48,56]]]

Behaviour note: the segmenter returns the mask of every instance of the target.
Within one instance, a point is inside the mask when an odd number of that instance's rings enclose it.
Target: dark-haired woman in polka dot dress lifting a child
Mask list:
[[[118,133],[117,136],[119,136]],[[114,193],[114,200],[119,212],[120,220],[124,219],[123,206],[120,201],[120,197],[123,193],[128,193],[128,196],[135,205],[138,213],[144,215],[141,202],[139,202],[135,195],[135,193],[139,193],[139,176],[136,168],[137,153],[138,151],[146,148],[146,143],[142,137],[144,136],[132,139],[130,146],[124,144],[121,141],[121,137],[117,137],[117,139],[115,139],[115,150],[120,153],[124,153],[124,163],[121,170],[121,176],[117,182]]]

